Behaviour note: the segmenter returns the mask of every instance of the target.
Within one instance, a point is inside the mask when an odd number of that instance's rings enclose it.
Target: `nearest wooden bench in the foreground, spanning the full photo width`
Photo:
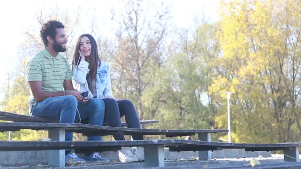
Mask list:
[[[298,148],[301,143],[279,144],[241,144],[241,143],[218,143],[200,142],[183,139],[155,139],[155,140],[120,140],[120,141],[93,141],[93,142],[0,142],[1,151],[16,150],[60,150],[75,149],[77,152],[120,150],[121,146],[144,147],[145,167],[164,166],[164,147],[169,151],[199,151],[199,150],[222,150],[222,149],[245,149],[245,151],[271,151],[282,150],[284,161],[298,162]]]

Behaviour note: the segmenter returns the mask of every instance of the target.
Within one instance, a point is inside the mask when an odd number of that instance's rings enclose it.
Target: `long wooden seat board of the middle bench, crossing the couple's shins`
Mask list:
[[[18,131],[20,129],[32,130],[51,130],[51,129],[64,129],[69,132],[83,133],[87,136],[93,135],[113,135],[113,134],[142,134],[142,135],[166,135],[166,136],[186,136],[195,135],[196,133],[218,133],[228,132],[228,130],[221,129],[205,129],[205,130],[169,130],[169,129],[135,129],[135,128],[122,128],[110,126],[96,126],[89,124],[78,123],[0,123],[0,131]]]

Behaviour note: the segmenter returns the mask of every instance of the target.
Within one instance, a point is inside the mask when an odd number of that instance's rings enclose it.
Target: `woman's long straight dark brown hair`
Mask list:
[[[78,52],[80,49],[80,42],[82,37],[87,37],[90,40],[90,44],[91,44],[91,54],[90,54],[90,63],[89,63],[89,74],[87,74],[86,79],[88,81],[88,86],[91,92],[93,92],[94,90],[94,86],[95,86],[95,80],[96,80],[96,74],[97,74],[97,68],[99,66],[101,66],[101,58],[99,58],[98,56],[98,49],[97,49],[97,43],[95,41],[95,39],[92,37],[92,35],[90,34],[83,34],[79,37],[79,40],[77,42],[74,54],[73,54],[73,63],[75,64],[80,64],[81,60],[80,60],[80,53]],[[84,56],[82,56],[84,57]],[[98,64],[99,62],[99,64]],[[78,66],[77,65],[77,66]],[[73,66],[72,66],[72,70],[73,70]]]

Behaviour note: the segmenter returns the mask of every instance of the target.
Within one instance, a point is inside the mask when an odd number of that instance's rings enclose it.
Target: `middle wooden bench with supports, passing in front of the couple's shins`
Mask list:
[[[119,128],[109,126],[96,126],[81,123],[29,123],[29,122],[3,122],[0,123],[0,132],[4,131],[18,131],[20,129],[31,130],[48,130],[48,137],[53,141],[65,142],[65,131],[83,133],[87,136],[94,135],[165,135],[167,137],[186,136],[198,134],[199,140],[206,142],[211,141],[211,133],[228,132],[228,130],[161,130],[161,129],[134,129],[134,128]],[[114,141],[115,142],[115,141]],[[135,140],[133,140],[135,143]],[[126,143],[131,143],[126,142]],[[124,145],[125,146],[125,145]],[[127,145],[131,146],[131,145]],[[49,151],[49,165],[64,166],[65,156],[64,150]],[[200,159],[212,159],[211,151],[199,151]]]

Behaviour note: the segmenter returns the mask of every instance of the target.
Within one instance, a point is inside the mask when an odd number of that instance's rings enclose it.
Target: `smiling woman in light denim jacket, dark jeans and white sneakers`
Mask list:
[[[129,128],[141,128],[133,103],[130,100],[114,99],[111,89],[109,65],[98,56],[95,39],[89,34],[79,37],[77,52],[73,55],[73,84],[80,92],[89,91],[90,97],[97,97],[105,102],[105,119],[108,126],[121,127],[121,117],[126,118]],[[125,140],[123,135],[113,135],[115,140]],[[134,140],[143,139],[142,135],[132,135]],[[138,147],[135,155],[130,147],[122,147],[118,152],[121,162],[144,160],[144,149]]]

